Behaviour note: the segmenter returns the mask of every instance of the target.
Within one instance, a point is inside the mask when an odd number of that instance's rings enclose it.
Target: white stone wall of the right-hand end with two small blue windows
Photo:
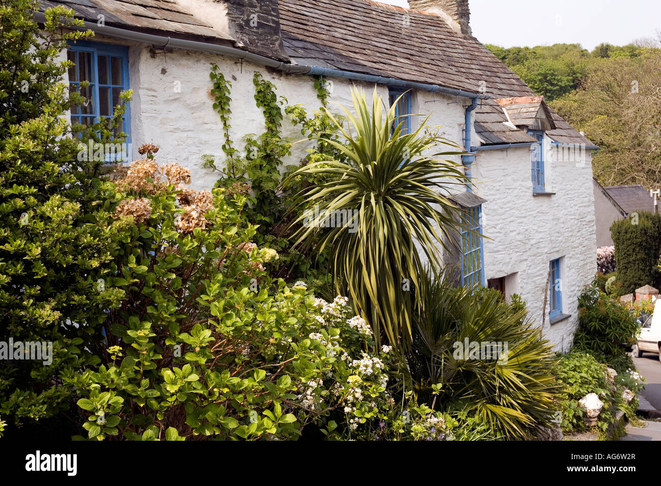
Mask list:
[[[510,276],[506,292],[520,294],[558,350],[571,346],[578,326],[577,299],[596,272],[592,157],[558,160],[545,154],[545,186],[551,196],[533,196],[527,147],[478,151],[473,174],[483,205],[486,278]],[[543,309],[549,262],[561,258],[563,313],[549,324]],[[548,301],[548,299],[547,299]]]

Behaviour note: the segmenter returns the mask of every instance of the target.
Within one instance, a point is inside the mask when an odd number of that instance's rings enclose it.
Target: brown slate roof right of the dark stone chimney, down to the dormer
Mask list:
[[[485,144],[534,142],[508,124],[495,99],[535,93],[473,37],[457,34],[434,13],[371,0],[279,0],[285,50],[299,64],[316,65],[486,92],[475,110],[475,130]],[[548,107],[547,107],[548,108]],[[548,108],[556,142],[585,143]]]

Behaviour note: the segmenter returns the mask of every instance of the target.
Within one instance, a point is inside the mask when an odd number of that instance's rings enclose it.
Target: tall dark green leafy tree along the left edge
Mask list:
[[[28,0],[0,8],[0,340],[47,343],[46,354],[50,343],[52,356],[0,367],[7,433],[35,421],[48,433],[44,419],[56,416],[46,422],[61,433],[71,401],[63,380],[98,360],[97,324],[122,296],[104,286],[113,237],[102,161],[78,157],[80,142],[108,140],[117,120],[72,134],[61,116],[82,97],[67,96],[61,77],[70,63],[59,53],[91,32],[66,30],[81,21],[63,7],[48,9],[39,25],[36,9]]]

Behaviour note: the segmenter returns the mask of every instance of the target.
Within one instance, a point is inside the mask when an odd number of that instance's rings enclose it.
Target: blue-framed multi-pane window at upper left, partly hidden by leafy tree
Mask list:
[[[112,112],[121,104],[120,93],[129,89],[128,48],[99,42],[71,42],[67,59],[75,65],[69,68],[69,91],[79,91],[87,99],[87,104],[71,108],[71,124],[90,126],[102,118],[112,117]],[[89,86],[81,87],[87,81]],[[131,142],[130,104],[122,125],[115,134],[124,132],[126,143]]]

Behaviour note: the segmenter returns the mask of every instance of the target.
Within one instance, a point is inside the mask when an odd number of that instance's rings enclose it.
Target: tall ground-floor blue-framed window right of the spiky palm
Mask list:
[[[461,284],[469,287],[484,286],[485,256],[482,238],[482,206],[464,209],[462,220],[465,227],[460,231]]]

